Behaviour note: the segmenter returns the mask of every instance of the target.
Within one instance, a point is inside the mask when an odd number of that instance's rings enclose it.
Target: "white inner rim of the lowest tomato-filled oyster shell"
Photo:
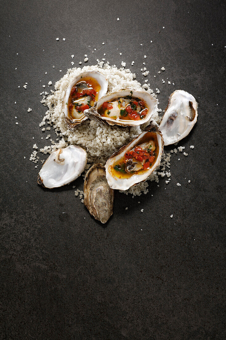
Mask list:
[[[108,181],[109,186],[112,189],[118,189],[118,190],[127,190],[129,189],[131,186],[140,183],[142,181],[145,181],[147,179],[147,177],[154,171],[154,169],[160,164],[161,161],[161,156],[162,156],[162,152],[163,152],[163,145],[162,145],[162,138],[159,134],[157,135],[157,141],[158,141],[158,146],[159,146],[159,152],[158,152],[158,156],[156,157],[155,162],[152,164],[152,166],[150,167],[149,170],[145,171],[143,174],[134,174],[131,177],[129,177],[128,179],[125,178],[118,178],[116,176],[114,176],[114,174],[110,171],[111,166],[113,166],[115,164],[115,162],[117,160],[119,160],[127,151],[131,150],[134,148],[135,145],[137,145],[139,143],[139,140],[143,138],[143,136],[146,134],[147,132],[142,132],[131,144],[129,144],[127,146],[127,148],[125,148],[123,150],[122,153],[113,156],[112,158],[110,157],[105,165],[106,168],[106,178]]]

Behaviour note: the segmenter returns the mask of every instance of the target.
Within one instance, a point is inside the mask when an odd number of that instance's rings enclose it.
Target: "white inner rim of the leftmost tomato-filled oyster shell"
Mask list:
[[[108,90],[108,81],[107,79],[98,71],[87,71],[80,73],[76,78],[73,79],[73,81],[68,85],[67,91],[65,93],[64,97],[64,105],[63,105],[63,113],[64,116],[69,119],[72,124],[75,122],[82,122],[86,120],[88,117],[86,117],[84,114],[81,115],[81,118],[79,119],[71,119],[69,117],[69,110],[68,110],[68,99],[72,90],[72,87],[75,86],[78,82],[82,81],[82,78],[84,77],[92,77],[94,78],[99,84],[100,84],[100,90],[98,92],[98,100],[106,95]]]

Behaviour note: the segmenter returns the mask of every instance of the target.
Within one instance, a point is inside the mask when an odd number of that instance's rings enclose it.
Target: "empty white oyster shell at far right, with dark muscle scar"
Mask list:
[[[197,108],[195,98],[186,91],[176,90],[170,95],[159,124],[165,145],[176,143],[189,134],[197,121]]]

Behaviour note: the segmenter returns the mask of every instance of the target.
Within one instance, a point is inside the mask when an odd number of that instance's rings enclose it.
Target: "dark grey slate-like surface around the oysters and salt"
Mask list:
[[[216,0],[1,1],[1,339],[225,337],[224,14]],[[33,143],[45,145],[42,85],[66,72],[71,54],[78,66],[104,52],[142,83],[145,61],[162,109],[174,89],[200,103],[170,184],[134,199],[116,192],[106,227],[72,184],[38,186],[29,161]]]

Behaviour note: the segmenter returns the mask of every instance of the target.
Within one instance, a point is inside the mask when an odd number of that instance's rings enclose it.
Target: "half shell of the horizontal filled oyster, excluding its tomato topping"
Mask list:
[[[147,114],[145,115],[143,119],[139,119],[139,120],[134,120],[132,118],[130,119],[127,113],[126,113],[127,115],[126,118],[123,115],[121,115],[120,113],[121,108],[125,108],[128,105],[127,103],[128,98],[126,98],[127,96],[129,96],[130,98],[132,97],[132,99],[138,98],[140,99],[140,101],[143,101],[147,105],[146,106]],[[121,104],[121,107],[119,108],[117,107],[117,103],[118,103],[117,99],[120,99],[120,98],[122,99],[122,104]],[[105,102],[112,102],[112,106],[113,106],[112,110],[115,113],[115,116],[112,116],[111,111],[108,117],[102,116],[100,114],[102,104]],[[98,100],[98,102],[95,103],[93,107],[85,110],[84,114],[88,118],[96,120],[96,121],[100,121],[103,124],[120,125],[120,126],[138,126],[138,125],[147,123],[151,119],[152,115],[155,112],[157,112],[157,109],[158,109],[157,99],[154,98],[152,95],[150,95],[147,91],[137,91],[131,88],[126,88],[126,89],[121,89],[116,92],[108,93],[106,96]],[[125,110],[122,110],[122,111],[125,112]],[[140,115],[141,115],[141,112],[140,112]]]

